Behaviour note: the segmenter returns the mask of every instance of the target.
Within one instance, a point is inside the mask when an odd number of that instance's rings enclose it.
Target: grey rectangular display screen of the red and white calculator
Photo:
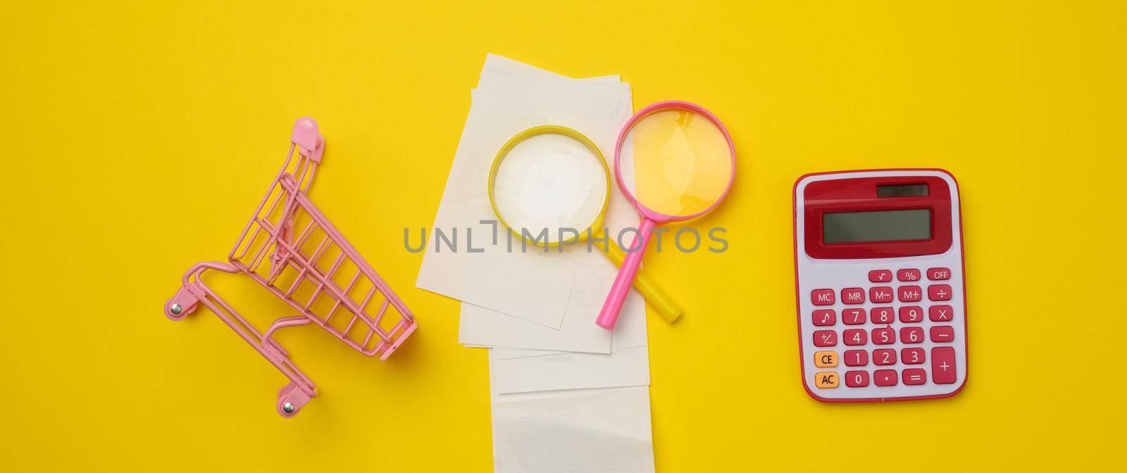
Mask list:
[[[930,238],[931,209],[822,214],[822,239],[827,244]]]

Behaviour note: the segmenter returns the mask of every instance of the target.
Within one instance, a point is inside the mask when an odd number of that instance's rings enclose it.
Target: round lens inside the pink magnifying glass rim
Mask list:
[[[622,185],[639,204],[671,216],[690,216],[724,197],[733,172],[724,132],[685,109],[656,110],[622,140]]]

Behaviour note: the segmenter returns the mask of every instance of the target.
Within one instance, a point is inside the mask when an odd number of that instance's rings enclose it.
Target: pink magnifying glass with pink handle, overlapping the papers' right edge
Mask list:
[[[720,119],[687,101],[662,101],[630,117],[614,146],[614,177],[641,216],[595,324],[614,329],[655,225],[701,216],[736,177],[736,146]]]

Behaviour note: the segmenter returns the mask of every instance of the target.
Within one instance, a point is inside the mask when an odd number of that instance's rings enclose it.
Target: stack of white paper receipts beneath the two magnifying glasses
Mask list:
[[[489,350],[494,468],[651,472],[645,301],[631,291],[614,331],[596,327],[616,273],[598,243],[589,252],[582,242],[562,252],[509,244],[487,189],[497,151],[538,125],[583,133],[613,169],[633,110],[630,84],[490,54],[472,100],[417,286],[462,301],[459,342]],[[613,244],[638,221],[613,181],[610,193]]]

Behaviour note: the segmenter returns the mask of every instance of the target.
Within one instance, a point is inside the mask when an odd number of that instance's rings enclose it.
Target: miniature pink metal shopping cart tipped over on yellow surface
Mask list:
[[[418,327],[410,310],[305,195],[325,152],[317,122],[298,119],[291,142],[282,171],[228,255],[229,262],[193,266],[165,305],[169,319],[180,320],[202,303],[282,371],[290,378],[277,399],[284,417],[296,414],[317,395],[317,386],[272,338],[278,329],[316,323],[357,351],[387,359]],[[249,276],[300,315],[277,319],[265,331],[256,329],[204,284],[201,276],[208,269]]]

